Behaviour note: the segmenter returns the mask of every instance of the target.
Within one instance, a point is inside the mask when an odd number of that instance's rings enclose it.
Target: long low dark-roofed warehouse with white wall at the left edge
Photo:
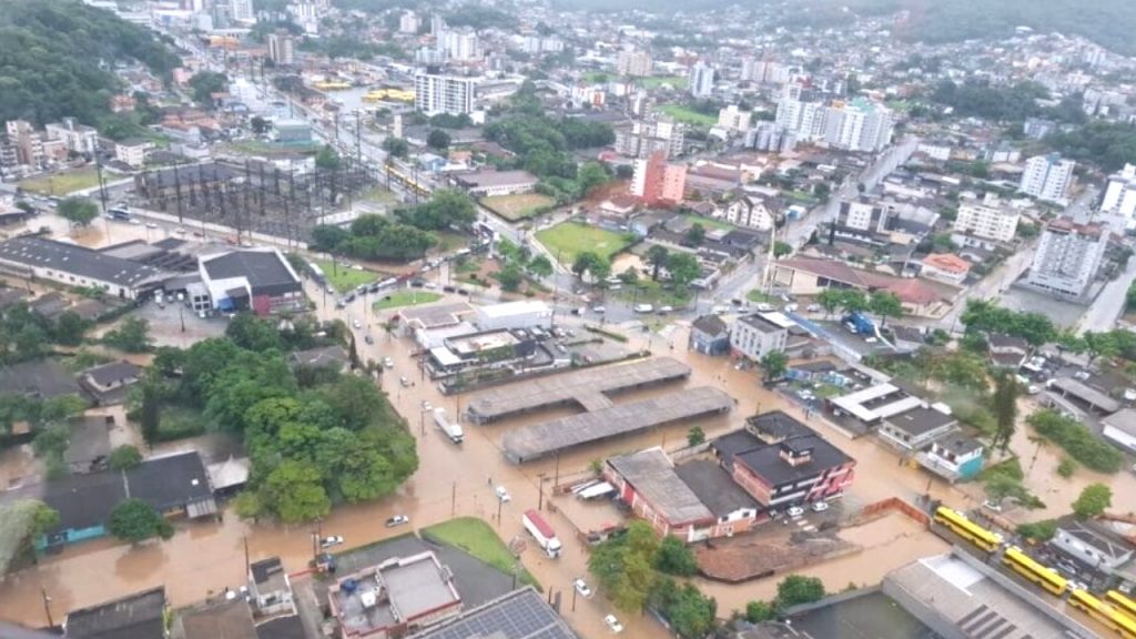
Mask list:
[[[12,238],[0,242],[0,273],[40,279],[67,287],[92,287],[111,297],[136,299],[167,276],[137,262],[114,257],[77,244],[44,238]]]

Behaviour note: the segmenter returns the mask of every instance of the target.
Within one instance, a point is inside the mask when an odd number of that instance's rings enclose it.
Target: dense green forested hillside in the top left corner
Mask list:
[[[77,0],[6,0],[0,9],[0,121],[73,116],[98,125],[122,90],[107,68],[137,60],[159,75],[179,64],[149,30]]]

